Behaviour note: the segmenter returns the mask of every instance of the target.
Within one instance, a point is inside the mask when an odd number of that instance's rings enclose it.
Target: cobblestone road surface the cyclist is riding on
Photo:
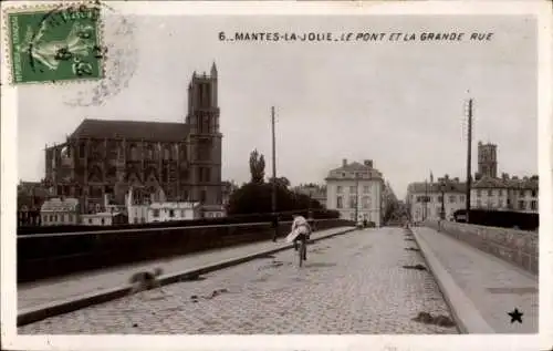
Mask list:
[[[451,317],[400,228],[366,229],[53,317],[19,333],[457,333],[414,321]],[[219,291],[219,293],[215,292]],[[213,293],[215,292],[215,293]]]

